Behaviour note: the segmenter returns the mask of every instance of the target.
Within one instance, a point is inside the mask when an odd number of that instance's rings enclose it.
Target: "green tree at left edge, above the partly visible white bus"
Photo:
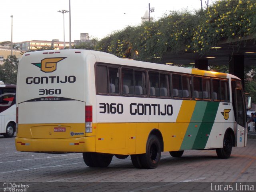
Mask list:
[[[15,55],[9,55],[0,65],[0,80],[6,84],[16,84],[18,71],[18,58]]]

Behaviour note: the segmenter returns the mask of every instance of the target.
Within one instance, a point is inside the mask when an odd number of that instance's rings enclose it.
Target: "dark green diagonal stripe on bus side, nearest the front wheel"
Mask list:
[[[218,111],[219,102],[207,102],[207,106],[192,149],[204,149]]]

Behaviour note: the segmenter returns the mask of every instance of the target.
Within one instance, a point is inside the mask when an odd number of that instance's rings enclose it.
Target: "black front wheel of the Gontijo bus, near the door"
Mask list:
[[[228,132],[226,132],[223,139],[223,147],[216,149],[218,158],[220,159],[229,158],[232,152],[232,146],[233,146],[232,137]]]

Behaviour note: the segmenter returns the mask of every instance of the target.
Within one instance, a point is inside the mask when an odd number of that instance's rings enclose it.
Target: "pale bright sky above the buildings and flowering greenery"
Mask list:
[[[205,7],[205,0],[203,6]],[[206,0],[207,1],[207,0]],[[63,41],[63,14],[69,10],[69,0],[0,0],[0,42],[58,39]],[[155,11],[155,20],[174,10],[198,10],[200,0],[70,0],[71,40],[80,40],[80,33],[90,39],[102,39],[126,26],[141,23],[148,3]],[[212,4],[213,0],[209,0]],[[13,16],[11,18],[10,16]],[[11,30],[13,19],[13,30]],[[69,13],[64,14],[65,42],[69,42]]]

